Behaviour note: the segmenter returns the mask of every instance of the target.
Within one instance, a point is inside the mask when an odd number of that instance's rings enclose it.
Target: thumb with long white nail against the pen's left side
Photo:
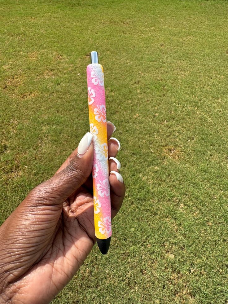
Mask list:
[[[36,195],[39,196],[39,202],[45,200],[48,205],[63,203],[68,196],[85,183],[93,167],[92,137],[92,134],[86,133],[78,145],[77,156],[70,164],[34,189]]]

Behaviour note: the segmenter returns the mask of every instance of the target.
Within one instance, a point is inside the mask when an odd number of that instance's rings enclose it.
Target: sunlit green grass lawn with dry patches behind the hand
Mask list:
[[[228,1],[1,1],[0,221],[88,131],[99,52],[126,197],[52,303],[228,301]]]

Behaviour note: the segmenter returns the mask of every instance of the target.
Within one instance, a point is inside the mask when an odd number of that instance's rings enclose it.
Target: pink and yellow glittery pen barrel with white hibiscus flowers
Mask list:
[[[112,235],[104,73],[98,63],[89,64],[86,72],[90,133],[94,145],[94,227],[95,236],[103,240]]]

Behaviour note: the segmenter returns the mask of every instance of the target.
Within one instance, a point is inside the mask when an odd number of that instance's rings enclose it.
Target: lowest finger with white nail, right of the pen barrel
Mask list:
[[[121,208],[125,196],[125,184],[119,172],[111,171],[109,175],[112,218]]]

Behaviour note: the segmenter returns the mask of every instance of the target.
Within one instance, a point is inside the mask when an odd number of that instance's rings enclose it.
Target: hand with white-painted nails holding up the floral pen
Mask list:
[[[108,138],[112,131],[107,124]],[[118,146],[115,139],[108,141],[109,157],[116,156]],[[77,155],[77,149],[72,152],[0,227],[3,303],[49,303],[90,253],[95,243],[92,165],[91,142],[83,155]],[[109,169],[118,172],[115,159],[109,160]],[[109,181],[113,218],[125,185],[120,174],[110,174]]]

